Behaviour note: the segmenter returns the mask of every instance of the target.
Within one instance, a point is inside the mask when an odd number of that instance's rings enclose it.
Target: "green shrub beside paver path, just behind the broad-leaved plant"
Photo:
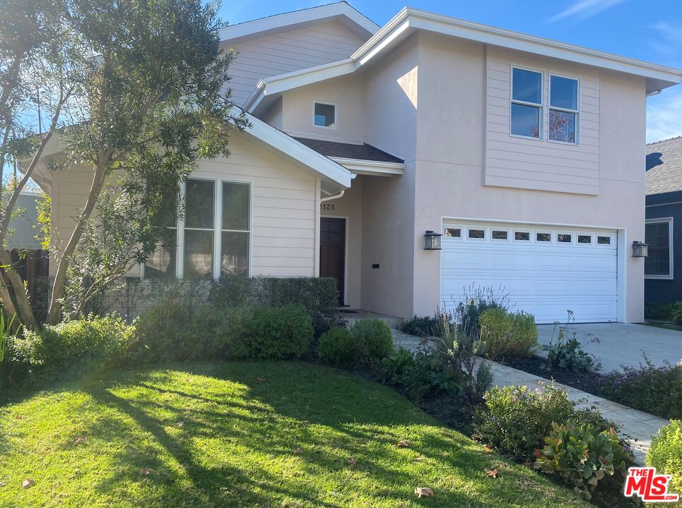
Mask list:
[[[499,452],[518,460],[529,460],[552,429],[552,422],[571,418],[592,424],[600,432],[615,428],[597,411],[575,409],[568,392],[552,386],[529,391],[527,387],[493,387],[485,396],[486,404],[476,408],[474,435]]]

